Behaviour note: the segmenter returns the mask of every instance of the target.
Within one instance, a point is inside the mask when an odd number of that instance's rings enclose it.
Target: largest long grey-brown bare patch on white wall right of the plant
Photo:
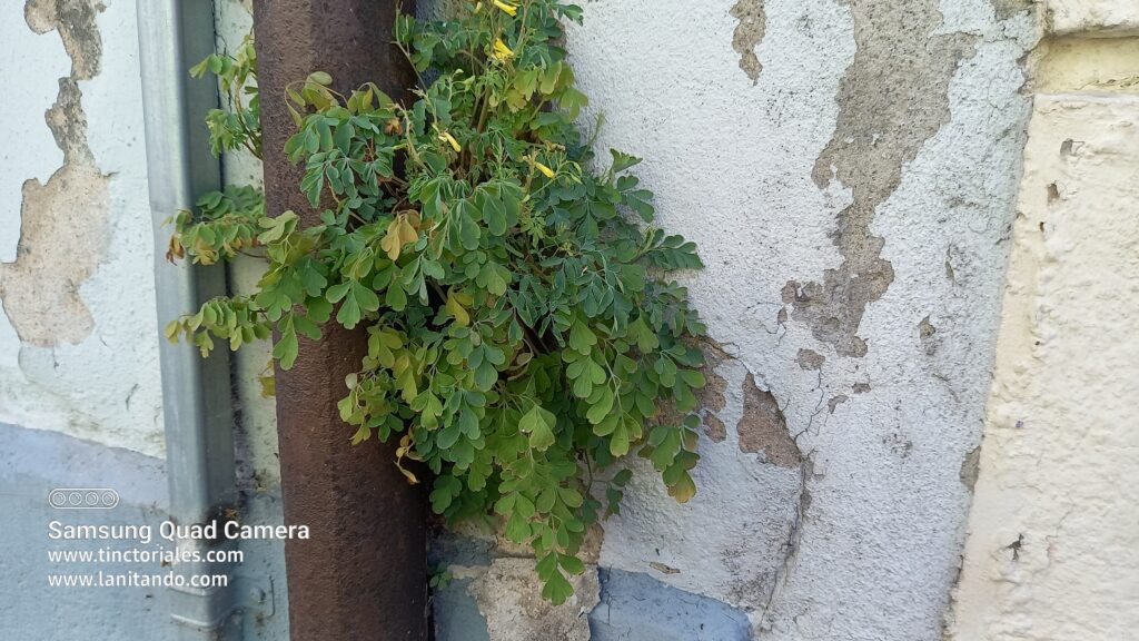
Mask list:
[[[882,258],[885,240],[870,233],[875,210],[898,189],[903,165],[949,122],[949,82],[974,55],[976,36],[940,34],[937,0],[843,3],[854,17],[858,50],[838,90],[834,136],[812,172],[819,187],[837,179],[853,193],[831,236],[843,262],[821,283],[788,282],[782,299],[814,338],[841,356],[862,357],[866,306],[894,281],[893,265]]]

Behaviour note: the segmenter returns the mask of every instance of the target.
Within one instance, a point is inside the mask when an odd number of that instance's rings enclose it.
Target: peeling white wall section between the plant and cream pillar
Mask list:
[[[605,114],[598,145],[644,156],[663,225],[700,245],[707,268],[686,281],[721,347],[699,492],[677,505],[633,463],[599,559],[633,579],[603,582],[603,605],[625,598],[609,590],[666,602],[658,583],[738,608],[756,638],[940,638],[999,323],[1030,5],[585,6],[567,38],[582,122]]]

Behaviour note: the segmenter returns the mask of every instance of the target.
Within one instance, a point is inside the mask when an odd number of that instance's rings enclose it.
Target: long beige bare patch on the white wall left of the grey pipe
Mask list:
[[[59,79],[59,95],[46,114],[64,164],[46,185],[24,182],[16,261],[0,263],[8,318],[22,341],[41,347],[77,343],[95,325],[79,287],[95,274],[107,246],[110,177],[99,171],[88,147],[77,81],[99,73],[103,41],[95,18],[104,9],[89,0],[25,5],[28,26],[40,34],[58,31],[72,58],[71,75]]]

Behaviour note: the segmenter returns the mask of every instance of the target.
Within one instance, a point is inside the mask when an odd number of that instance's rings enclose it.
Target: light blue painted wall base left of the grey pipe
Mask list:
[[[118,492],[112,510],[57,510],[59,487]],[[141,563],[52,563],[49,550],[121,547],[52,541],[48,525],[149,525],[165,517],[163,461],[56,432],[0,424],[0,638],[8,641],[137,641],[174,638],[164,587],[51,587],[56,574],[159,573]],[[164,544],[162,539],[151,545]],[[131,543],[130,546],[136,546]]]

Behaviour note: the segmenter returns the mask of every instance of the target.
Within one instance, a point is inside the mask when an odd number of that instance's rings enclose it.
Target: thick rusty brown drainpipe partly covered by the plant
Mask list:
[[[407,98],[415,74],[392,43],[396,0],[254,0],[257,81],[270,214],[319,212],[285,157],[296,130],[285,88],[313,71],[349,92],[372,81]],[[277,372],[277,425],[285,520],[311,539],[285,543],[293,641],[427,639],[426,502],[394,465],[394,444],[350,444],[339,420],[344,376],[360,368],[367,334],[331,323],[319,342],[301,341],[289,372]]]

